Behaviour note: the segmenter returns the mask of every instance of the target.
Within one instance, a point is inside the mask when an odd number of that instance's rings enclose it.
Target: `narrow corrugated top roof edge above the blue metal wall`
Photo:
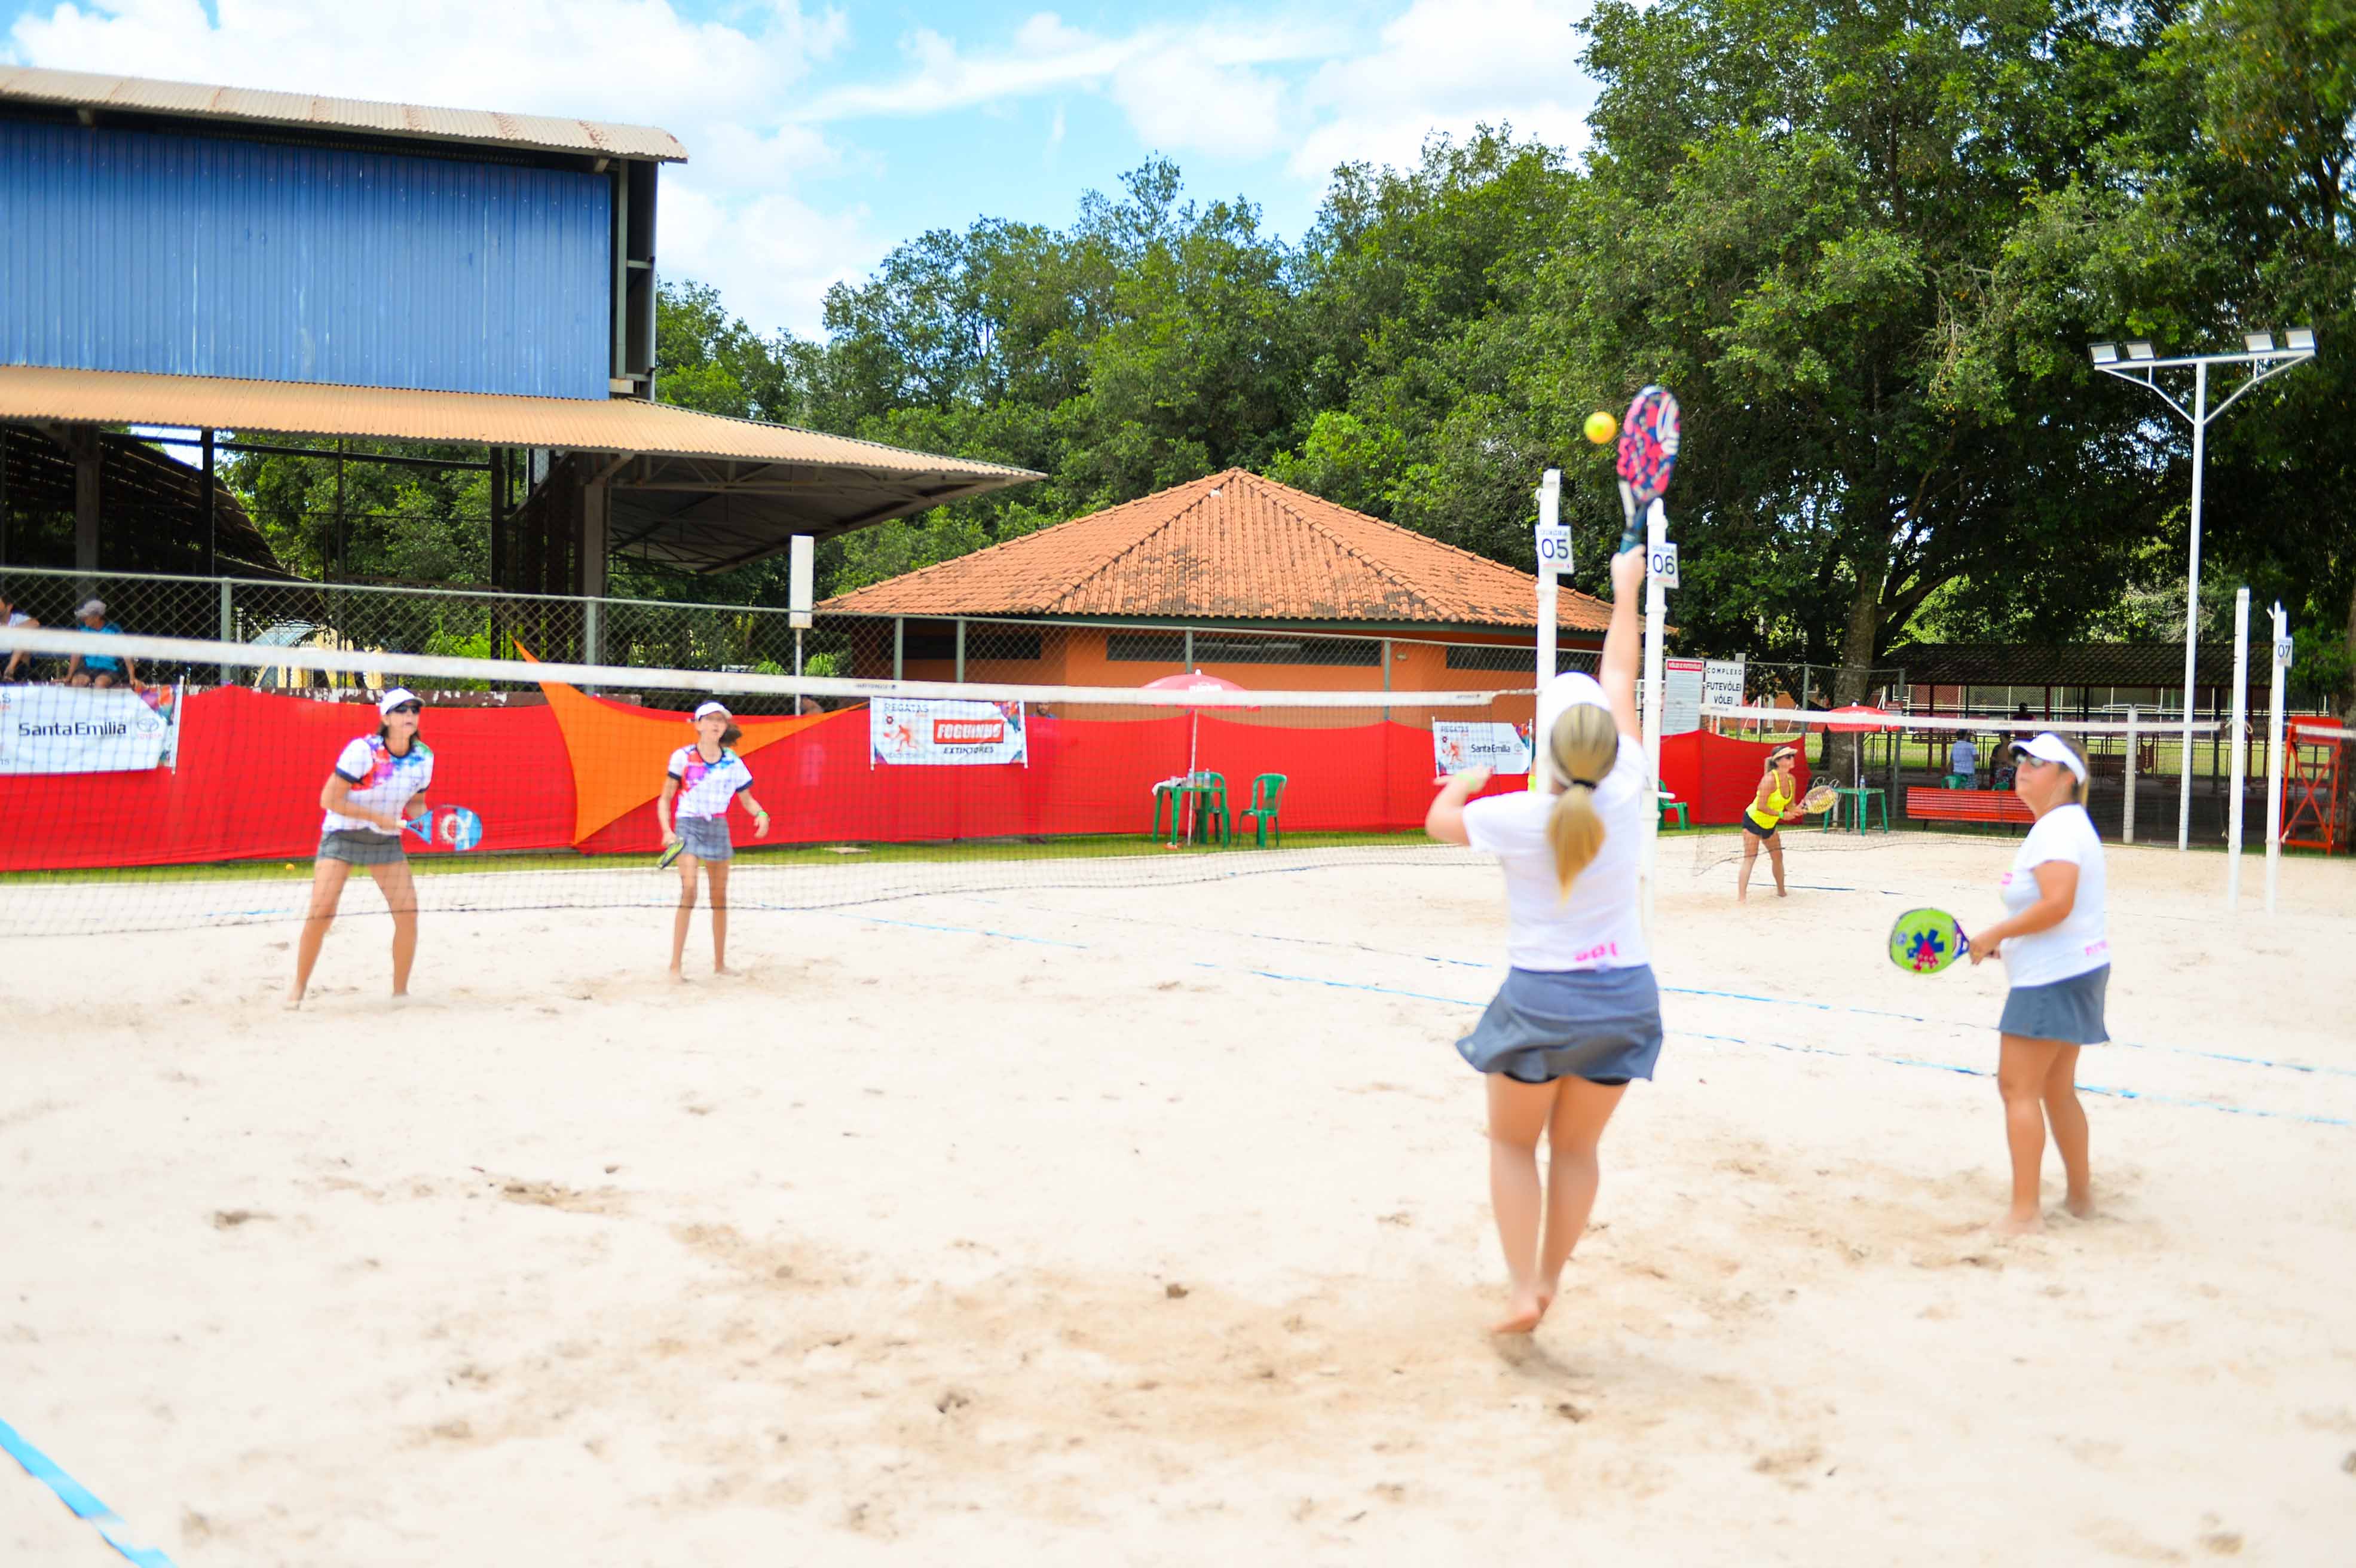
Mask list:
[[[120,108],[153,115],[193,115],[207,120],[236,120],[245,125],[297,125],[316,129],[375,132],[384,137],[419,137],[434,141],[476,141],[483,146],[528,146],[547,153],[603,153],[613,158],[653,158],[657,162],[688,160],[688,148],[679,144],[679,137],[653,125],[507,115],[483,108],[377,104],[370,99],[266,92],[259,87],[163,82],[144,75],[99,75],[87,71],[0,66],[0,99],[54,104],[61,108]]]

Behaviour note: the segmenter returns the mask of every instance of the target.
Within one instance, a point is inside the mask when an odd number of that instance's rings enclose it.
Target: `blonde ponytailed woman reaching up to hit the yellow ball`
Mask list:
[[[1423,819],[1432,838],[1496,855],[1505,869],[1513,968],[1456,1041],[1489,1085],[1489,1201],[1508,1276],[1494,1333],[1527,1335],[1546,1316],[1595,1208],[1604,1123],[1628,1081],[1652,1078],[1661,1057],[1661,989],[1637,909],[1654,810],[1635,720],[1642,582],[1642,551],[1612,560],[1602,680],[1557,676],[1538,695],[1546,793],[1470,800],[1489,782],[1472,768],[1449,775]],[[1553,1151],[1543,1194],[1541,1135]]]

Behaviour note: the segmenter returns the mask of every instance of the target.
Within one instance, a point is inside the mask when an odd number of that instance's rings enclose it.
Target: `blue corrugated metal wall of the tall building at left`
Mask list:
[[[587,172],[0,120],[0,365],[605,398]]]

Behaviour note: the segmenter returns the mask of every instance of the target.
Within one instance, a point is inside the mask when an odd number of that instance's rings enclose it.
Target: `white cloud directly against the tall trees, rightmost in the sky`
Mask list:
[[[1414,165],[1435,129],[1463,137],[1480,122],[1586,146],[1595,85],[1571,33],[1583,12],[1546,0],[1414,0],[1374,49],[1326,61],[1310,78],[1303,99],[1315,127],[1293,148],[1293,174],[1324,179],[1341,162]]]

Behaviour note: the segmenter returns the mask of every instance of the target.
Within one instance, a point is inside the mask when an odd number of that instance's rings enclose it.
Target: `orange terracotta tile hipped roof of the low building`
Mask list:
[[[1088,614],[1529,626],[1536,577],[1227,469],[832,598],[855,614]],[[1562,591],[1564,631],[1602,600]]]

